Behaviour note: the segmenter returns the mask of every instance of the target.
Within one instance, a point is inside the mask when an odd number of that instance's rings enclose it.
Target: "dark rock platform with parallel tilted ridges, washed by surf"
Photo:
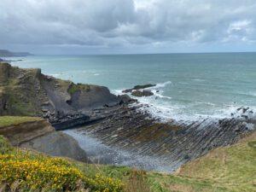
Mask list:
[[[95,115],[102,119],[77,131],[136,156],[164,160],[174,171],[213,148],[236,143],[256,128],[256,122],[249,119],[201,119],[163,124],[137,108],[116,106],[97,110]]]

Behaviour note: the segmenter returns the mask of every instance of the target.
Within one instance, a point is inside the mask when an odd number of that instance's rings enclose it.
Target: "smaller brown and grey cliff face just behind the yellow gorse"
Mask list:
[[[13,117],[15,120],[18,117]],[[32,148],[54,156],[65,156],[87,161],[87,156],[77,141],[65,133],[57,132],[45,119],[29,120],[13,125],[0,125],[0,135],[21,148]]]

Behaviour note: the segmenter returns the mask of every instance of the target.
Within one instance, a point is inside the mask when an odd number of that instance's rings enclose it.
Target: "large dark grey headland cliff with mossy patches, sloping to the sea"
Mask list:
[[[41,116],[50,121],[119,103],[106,87],[73,84],[0,63],[0,115]]]

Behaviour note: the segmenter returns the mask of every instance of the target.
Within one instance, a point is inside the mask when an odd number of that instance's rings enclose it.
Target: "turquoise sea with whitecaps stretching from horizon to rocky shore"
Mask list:
[[[169,55],[35,55],[13,62],[76,83],[108,86],[115,94],[157,84],[143,97],[162,119],[222,118],[236,108],[256,111],[256,53]],[[156,90],[159,92],[156,93]]]

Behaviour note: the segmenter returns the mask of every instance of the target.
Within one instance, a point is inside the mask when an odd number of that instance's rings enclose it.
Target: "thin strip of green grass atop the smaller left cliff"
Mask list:
[[[0,116],[0,127],[41,120],[38,117]]]

